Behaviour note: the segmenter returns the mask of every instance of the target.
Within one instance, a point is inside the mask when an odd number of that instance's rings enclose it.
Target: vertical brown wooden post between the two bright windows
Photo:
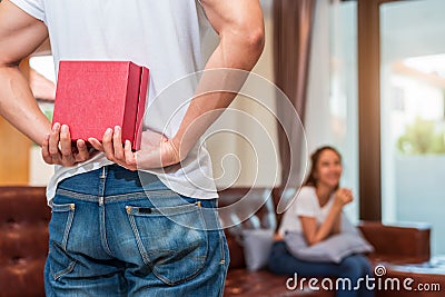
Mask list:
[[[358,141],[360,214],[382,219],[379,0],[358,0]]]

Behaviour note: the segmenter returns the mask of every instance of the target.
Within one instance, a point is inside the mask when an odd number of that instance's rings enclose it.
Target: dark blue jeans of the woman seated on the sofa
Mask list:
[[[274,242],[269,256],[268,267],[273,273],[279,275],[294,276],[294,274],[297,274],[298,279],[312,277],[345,278],[352,281],[352,288],[356,286],[356,283],[359,278],[365,278],[366,275],[368,275],[369,277],[374,277],[370,264],[368,259],[363,255],[348,256],[344,258],[339,264],[303,261],[289,254],[286,248],[285,241]],[[305,284],[308,285],[308,281],[306,281]],[[320,289],[323,288],[320,283],[317,284],[317,287]],[[366,285],[362,280],[359,283],[358,290],[343,289],[343,286],[339,286],[336,296],[372,297],[374,296],[374,291],[368,290],[366,288]]]

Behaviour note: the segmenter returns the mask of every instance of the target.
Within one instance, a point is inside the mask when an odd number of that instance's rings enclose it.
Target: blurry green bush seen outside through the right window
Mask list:
[[[445,133],[433,120],[416,118],[397,139],[397,149],[405,155],[445,154]]]

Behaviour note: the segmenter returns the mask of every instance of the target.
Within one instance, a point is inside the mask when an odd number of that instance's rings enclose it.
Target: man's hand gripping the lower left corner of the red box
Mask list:
[[[41,146],[43,160],[50,165],[70,167],[92,157],[83,140],[79,139],[76,145],[71,146],[68,126],[56,122]]]

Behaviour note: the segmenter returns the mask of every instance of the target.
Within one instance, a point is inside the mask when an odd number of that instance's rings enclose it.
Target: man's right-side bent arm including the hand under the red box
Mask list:
[[[109,160],[132,170],[166,167],[181,161],[208,127],[231,103],[248,71],[258,61],[264,48],[264,20],[259,0],[201,0],[201,3],[210,24],[220,38],[205,70],[230,70],[202,73],[196,97],[171,139],[146,132],[146,137],[157,140],[151,139],[151,143],[145,148],[142,136],[141,150],[136,154],[131,152],[129,141],[122,149],[119,128],[109,129],[103,136],[102,145],[90,139],[93,147],[103,150]]]

